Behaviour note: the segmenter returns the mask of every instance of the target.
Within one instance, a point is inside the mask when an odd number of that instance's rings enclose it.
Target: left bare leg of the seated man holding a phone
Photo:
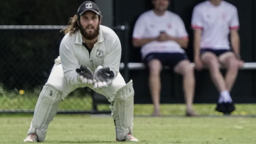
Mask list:
[[[161,62],[157,59],[153,59],[148,63],[149,67],[149,88],[154,104],[153,116],[160,116],[160,90],[161,90],[161,79],[160,73],[162,70]]]

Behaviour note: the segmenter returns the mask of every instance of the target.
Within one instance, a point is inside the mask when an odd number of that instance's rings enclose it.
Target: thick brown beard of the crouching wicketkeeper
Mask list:
[[[89,27],[95,29],[93,25],[88,25],[88,26],[86,26],[85,29],[82,28],[82,26],[80,26],[80,27],[79,27],[79,30],[80,30],[82,36],[83,36],[85,39],[93,40],[93,39],[95,39],[95,38],[99,35],[100,24],[98,24],[97,28],[96,28],[95,31],[92,32],[92,33],[87,33],[86,29],[88,29]]]

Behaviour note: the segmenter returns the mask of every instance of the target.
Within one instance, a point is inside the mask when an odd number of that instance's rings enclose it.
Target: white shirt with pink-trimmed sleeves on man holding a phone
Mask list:
[[[146,11],[137,19],[133,39],[154,38],[164,31],[176,38],[188,38],[182,19],[171,11],[166,11],[163,16],[158,16],[153,10]],[[180,44],[175,41],[152,41],[141,47],[142,58],[150,53],[184,53]]]

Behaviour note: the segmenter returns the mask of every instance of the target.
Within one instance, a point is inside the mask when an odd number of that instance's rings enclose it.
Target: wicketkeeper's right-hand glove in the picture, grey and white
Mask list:
[[[98,66],[94,73],[94,89],[108,87],[112,83],[115,74],[108,66]]]

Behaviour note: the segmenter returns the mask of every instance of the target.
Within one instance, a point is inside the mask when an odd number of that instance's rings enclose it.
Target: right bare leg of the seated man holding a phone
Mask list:
[[[183,60],[174,67],[174,71],[183,76],[183,90],[187,106],[187,116],[197,116],[192,106],[195,93],[195,75],[193,65],[188,60]]]

